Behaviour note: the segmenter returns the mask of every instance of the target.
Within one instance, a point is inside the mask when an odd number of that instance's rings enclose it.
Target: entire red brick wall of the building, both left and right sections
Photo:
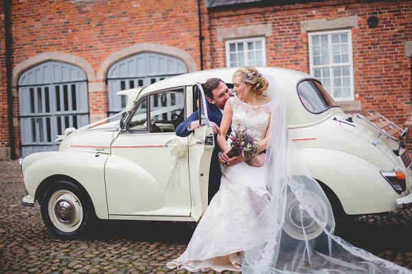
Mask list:
[[[108,55],[141,42],[186,51],[201,68],[197,1],[10,1],[12,68],[40,53],[58,51],[84,58],[97,73]],[[363,109],[374,108],[402,127],[412,123],[411,58],[404,57],[403,45],[412,40],[410,1],[319,1],[208,12],[202,0],[201,8],[204,69],[225,66],[225,42],[218,41],[216,29],[271,23],[266,64],[308,72],[308,36],[301,34],[301,21],[357,16],[358,27],[352,29],[356,100]],[[2,9],[1,5],[0,149],[9,146]],[[375,29],[366,23],[371,15],[379,18]],[[18,97],[13,108],[16,118]],[[91,114],[107,112],[104,90],[89,93],[89,108]],[[19,127],[15,136],[19,148]]]

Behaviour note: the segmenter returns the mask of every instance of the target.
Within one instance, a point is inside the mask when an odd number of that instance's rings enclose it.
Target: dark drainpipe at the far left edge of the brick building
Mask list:
[[[5,40],[5,73],[7,78],[7,103],[8,103],[8,129],[10,143],[10,158],[16,159],[16,144],[14,142],[14,127],[13,127],[13,95],[12,95],[12,56],[11,44],[12,37],[10,36],[10,2],[3,1],[4,10],[4,40]]]

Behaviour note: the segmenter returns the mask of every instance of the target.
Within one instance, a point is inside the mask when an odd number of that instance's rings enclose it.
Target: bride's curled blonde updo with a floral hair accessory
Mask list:
[[[269,87],[269,82],[266,78],[253,66],[242,66],[235,73],[233,77],[240,77],[246,86],[245,95],[250,92],[253,100],[260,95],[265,95]]]

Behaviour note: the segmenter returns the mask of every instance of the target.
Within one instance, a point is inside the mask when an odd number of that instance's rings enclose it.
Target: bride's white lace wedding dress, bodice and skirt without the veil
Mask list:
[[[246,128],[260,141],[266,136],[271,104],[251,106],[231,97],[231,128]],[[229,139],[230,140],[230,139]],[[268,205],[266,166],[240,162],[222,166],[219,191],[198,223],[186,251],[167,266],[188,271],[240,271],[243,251],[251,249],[255,227],[251,224]]]

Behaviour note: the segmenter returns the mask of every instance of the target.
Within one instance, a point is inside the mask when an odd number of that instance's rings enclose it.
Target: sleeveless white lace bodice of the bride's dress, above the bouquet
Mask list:
[[[247,131],[260,141],[266,136],[269,116],[271,114],[271,102],[263,105],[249,105],[244,103],[238,97],[231,97],[231,106],[233,110],[231,128],[246,128]]]

